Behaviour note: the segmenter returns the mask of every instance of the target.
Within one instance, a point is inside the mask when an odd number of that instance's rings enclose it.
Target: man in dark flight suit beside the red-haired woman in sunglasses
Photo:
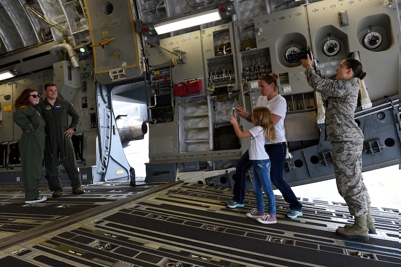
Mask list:
[[[53,83],[45,85],[46,98],[38,104],[46,121],[46,150],[45,168],[49,188],[53,191],[52,197],[63,195],[63,187],[58,169],[59,154],[71,180],[72,193],[82,195],[81,175],[77,161],[75,160],[74,147],[72,145],[72,133],[76,131],[79,123],[79,114],[72,104],[64,99],[57,98],[57,87]],[[69,117],[72,118],[69,125]]]

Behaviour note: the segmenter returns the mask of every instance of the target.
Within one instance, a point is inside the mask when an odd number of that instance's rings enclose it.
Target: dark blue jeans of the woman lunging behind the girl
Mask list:
[[[270,169],[270,179],[272,184],[279,189],[284,200],[290,205],[291,210],[302,211],[302,204],[296,198],[291,187],[283,179],[287,144],[285,142],[266,144],[264,148],[266,149],[267,155],[269,155],[270,163],[272,165]],[[249,152],[246,151],[241,159],[238,160],[236,166],[237,171],[233,186],[234,197],[232,199],[237,203],[244,204],[246,172],[251,168],[251,166],[252,162],[249,160]]]

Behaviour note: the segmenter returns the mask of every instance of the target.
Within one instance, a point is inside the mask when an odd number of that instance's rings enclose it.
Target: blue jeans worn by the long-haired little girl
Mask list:
[[[270,160],[252,160],[253,190],[258,211],[264,212],[263,191],[269,201],[269,214],[276,215],[276,198],[270,181]]]

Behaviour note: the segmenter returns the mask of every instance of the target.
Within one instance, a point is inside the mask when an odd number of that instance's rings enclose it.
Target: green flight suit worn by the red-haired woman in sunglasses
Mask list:
[[[39,186],[43,168],[45,120],[40,114],[39,107],[36,106],[18,108],[14,112],[13,120],[22,129],[18,148],[25,188],[25,200],[32,200],[39,196],[37,187]],[[27,130],[31,132],[27,132]]]

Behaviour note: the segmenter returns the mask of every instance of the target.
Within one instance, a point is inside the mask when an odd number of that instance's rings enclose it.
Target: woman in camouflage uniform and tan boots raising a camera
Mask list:
[[[361,241],[376,233],[370,216],[370,197],[362,177],[364,135],[354,120],[359,83],[366,72],[356,59],[343,60],[336,69],[335,80],[326,77],[314,66],[313,60],[301,59],[309,85],[328,99],[326,109],[326,140],[331,141],[332,160],[338,193],[346,201],[353,225],[338,228],[336,234]]]

